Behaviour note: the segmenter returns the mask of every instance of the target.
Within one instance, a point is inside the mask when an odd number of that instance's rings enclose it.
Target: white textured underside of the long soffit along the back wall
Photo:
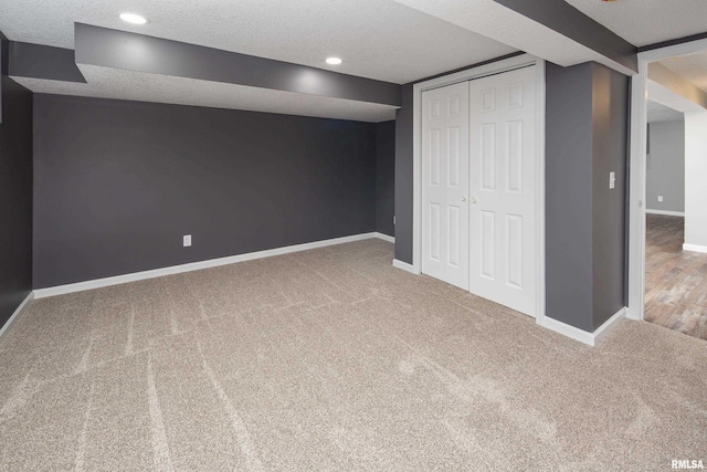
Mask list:
[[[87,84],[14,77],[36,93],[247,109],[357,122],[395,118],[395,107],[342,98],[305,95],[221,82],[197,81],[80,64]]]

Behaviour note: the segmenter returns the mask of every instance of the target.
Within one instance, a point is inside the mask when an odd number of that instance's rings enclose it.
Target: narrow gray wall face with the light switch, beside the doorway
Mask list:
[[[593,326],[625,306],[626,162],[629,143],[629,77],[592,63],[592,270]],[[609,188],[609,172],[615,188]]]

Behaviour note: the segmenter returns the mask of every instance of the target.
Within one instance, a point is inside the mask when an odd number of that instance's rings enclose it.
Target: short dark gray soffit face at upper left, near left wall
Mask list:
[[[86,83],[73,50],[17,41],[10,41],[9,75]]]

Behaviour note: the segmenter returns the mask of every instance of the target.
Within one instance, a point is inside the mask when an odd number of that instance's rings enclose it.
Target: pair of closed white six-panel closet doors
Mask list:
[[[536,316],[535,67],[422,94],[422,272]]]

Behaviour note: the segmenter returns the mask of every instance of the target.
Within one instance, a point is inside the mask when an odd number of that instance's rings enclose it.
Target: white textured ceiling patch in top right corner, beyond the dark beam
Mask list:
[[[706,0],[566,0],[636,46],[707,32]]]

